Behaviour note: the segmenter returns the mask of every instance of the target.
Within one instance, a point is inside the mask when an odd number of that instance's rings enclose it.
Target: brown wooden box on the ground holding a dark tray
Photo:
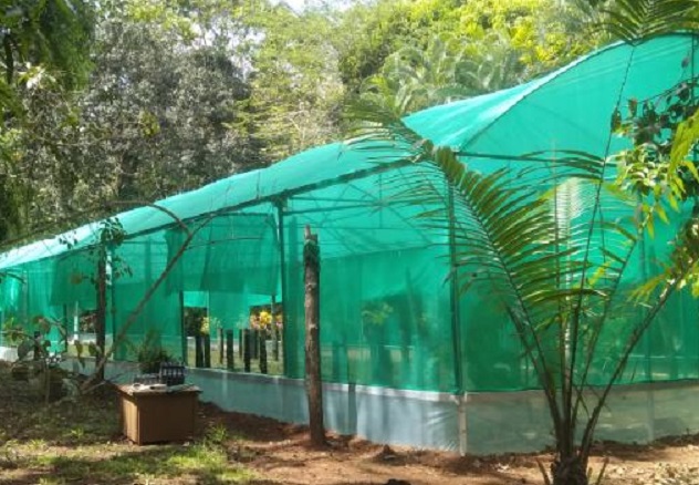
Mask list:
[[[122,430],[136,444],[182,442],[195,434],[198,388],[134,391],[118,385]]]

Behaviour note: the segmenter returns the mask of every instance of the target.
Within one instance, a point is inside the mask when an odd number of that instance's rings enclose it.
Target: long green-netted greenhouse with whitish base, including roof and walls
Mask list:
[[[688,34],[614,44],[529,83],[405,121],[483,173],[556,149],[606,157],[627,147],[611,130],[615,107],[695,80],[696,45]],[[541,448],[551,440],[547,412],[507,316],[487,291],[459,295],[449,279],[449,235],[419,224],[422,207],[396,202],[401,180],[424,176],[390,145],[335,143],[116,214],[1,255],[1,320],[28,328],[40,317],[60,322],[66,337],[54,329],[52,345],[70,354],[72,342],[93,331],[104,248],[106,340],[125,337],[111,374],[124,378],[144,341],[155,338],[191,368],[204,400],[304,422],[309,226],[322,255],[328,427],[473,453]],[[618,216],[614,208],[606,214]],[[667,238],[657,233],[645,248],[661,258]],[[649,262],[636,261],[640,275]],[[633,385],[619,386],[603,416],[602,437],[699,431],[699,417],[681,405],[699,379],[697,305],[680,293],[657,318],[620,380]],[[206,363],[196,357],[201,333],[211,354]],[[251,369],[243,367],[244,339],[261,342],[252,345]],[[603,360],[595,372],[603,382]]]

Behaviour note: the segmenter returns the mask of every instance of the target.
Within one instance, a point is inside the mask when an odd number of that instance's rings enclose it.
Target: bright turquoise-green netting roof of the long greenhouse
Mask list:
[[[689,34],[674,34],[636,47],[614,44],[526,84],[429,109],[408,116],[406,122],[435,143],[458,148],[474,159],[517,157],[556,148],[604,156],[623,143],[609,142],[612,107],[618,101],[645,99],[675,84],[682,70],[693,68],[693,60],[685,66],[679,61],[690,55],[695,40]],[[181,219],[189,219],[225,208],[283,199],[347,182],[376,168],[375,158],[367,151],[334,143],[264,169],[233,175],[166,198],[158,205]],[[153,207],[128,210],[118,218],[129,235],[174,223]],[[76,242],[73,248],[93,244],[97,228],[98,223],[92,223],[69,233]],[[66,249],[61,237],[41,240],[0,255],[0,268],[55,256]]]

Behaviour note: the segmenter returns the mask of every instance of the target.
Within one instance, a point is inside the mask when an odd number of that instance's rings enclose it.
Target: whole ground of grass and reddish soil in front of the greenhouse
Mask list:
[[[0,364],[0,484],[543,484],[552,455],[459,456],[384,446],[328,433],[310,446],[305,426],[199,406],[190,443],[136,446],[121,435],[109,386],[45,405]],[[212,436],[219,436],[213,438]],[[607,485],[699,485],[699,435],[649,445],[599,443]]]

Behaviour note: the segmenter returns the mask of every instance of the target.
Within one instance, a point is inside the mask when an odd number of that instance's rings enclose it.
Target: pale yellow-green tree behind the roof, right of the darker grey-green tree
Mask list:
[[[251,24],[261,41],[251,45],[250,110],[263,157],[274,163],[336,138],[344,86],[332,13],[263,3]]]

